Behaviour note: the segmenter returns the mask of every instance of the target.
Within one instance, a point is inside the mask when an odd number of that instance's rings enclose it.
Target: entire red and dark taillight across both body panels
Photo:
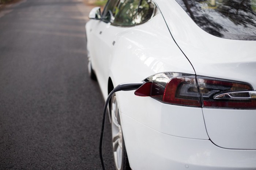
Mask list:
[[[156,74],[144,82],[135,95],[185,106],[256,108],[256,92],[247,83],[176,72]]]

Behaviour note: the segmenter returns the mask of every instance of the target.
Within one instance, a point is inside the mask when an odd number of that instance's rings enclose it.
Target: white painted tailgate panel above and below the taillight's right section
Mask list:
[[[158,5],[173,39],[197,75],[246,82],[256,90],[256,41],[210,35],[198,27],[176,1],[159,0]],[[207,133],[217,146],[256,149],[256,110],[202,110]]]

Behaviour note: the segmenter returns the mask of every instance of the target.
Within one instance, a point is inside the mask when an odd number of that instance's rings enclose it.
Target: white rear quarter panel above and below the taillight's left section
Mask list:
[[[167,27],[159,26],[164,24],[162,15],[158,15],[147,23],[125,29],[117,34],[112,65],[109,66],[114,87],[124,82],[142,81],[147,76],[158,72],[173,70],[195,74],[190,63],[171,38]],[[144,31],[145,29],[148,32]],[[136,42],[132,41],[136,37],[142,38]],[[148,44],[145,45],[145,41]],[[154,46],[155,43],[159,48],[148,48]],[[163,104],[152,98],[135,96],[133,92],[118,92],[116,95],[120,111],[125,111],[132,118],[157,131],[187,138],[208,139],[202,108],[190,109]],[[142,105],[137,103],[142,103]],[[151,105],[155,107],[143,107]],[[177,107],[182,111],[176,109]],[[179,112],[184,112],[184,114],[179,115]]]

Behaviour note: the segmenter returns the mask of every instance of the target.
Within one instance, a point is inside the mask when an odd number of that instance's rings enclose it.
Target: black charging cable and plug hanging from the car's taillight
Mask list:
[[[109,93],[108,98],[106,99],[106,103],[105,103],[104,110],[103,110],[103,118],[102,118],[102,126],[101,126],[101,139],[99,141],[99,156],[101,158],[101,165],[102,165],[103,170],[105,170],[105,165],[104,165],[104,161],[103,161],[103,157],[102,157],[102,141],[103,141],[106,112],[107,112],[109,100],[111,99],[112,95],[117,91],[137,90],[140,86],[142,86],[142,84],[143,83],[119,84]]]

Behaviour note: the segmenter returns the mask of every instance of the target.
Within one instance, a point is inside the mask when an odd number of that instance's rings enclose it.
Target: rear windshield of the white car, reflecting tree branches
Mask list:
[[[235,40],[256,40],[256,0],[176,0],[204,31]]]

